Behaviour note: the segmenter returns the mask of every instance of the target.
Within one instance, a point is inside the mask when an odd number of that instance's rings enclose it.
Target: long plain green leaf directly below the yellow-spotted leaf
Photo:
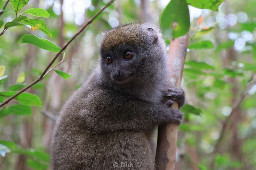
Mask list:
[[[52,51],[55,53],[58,53],[60,51],[60,47],[54,44],[53,42],[46,40],[44,38],[39,38],[36,35],[32,34],[25,34],[20,43],[28,43],[28,44],[33,44],[39,48],[43,48],[48,51]],[[65,53],[64,51],[62,52],[63,54]]]

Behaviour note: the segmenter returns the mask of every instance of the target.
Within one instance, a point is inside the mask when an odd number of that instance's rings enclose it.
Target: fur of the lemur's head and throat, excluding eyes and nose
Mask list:
[[[125,51],[132,51],[134,57],[124,60]],[[113,63],[106,64],[108,56]],[[166,88],[166,63],[165,44],[157,26],[148,23],[127,24],[103,33],[99,75],[103,82],[108,82],[108,86],[120,84],[112,81],[113,72],[118,70],[124,80],[118,88],[125,88],[128,93],[140,92],[143,98],[158,99],[160,91]]]

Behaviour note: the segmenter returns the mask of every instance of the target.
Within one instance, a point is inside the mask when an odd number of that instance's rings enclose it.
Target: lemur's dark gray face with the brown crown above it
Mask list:
[[[100,47],[100,65],[108,79],[117,83],[138,81],[150,71],[144,69],[154,64],[157,34],[150,27],[117,27],[103,36]]]

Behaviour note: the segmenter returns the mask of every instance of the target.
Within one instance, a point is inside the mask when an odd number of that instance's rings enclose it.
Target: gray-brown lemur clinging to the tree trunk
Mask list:
[[[99,63],[62,108],[52,139],[53,170],[153,170],[147,132],[180,124],[184,92],[168,89],[158,28],[128,24],[103,34]]]

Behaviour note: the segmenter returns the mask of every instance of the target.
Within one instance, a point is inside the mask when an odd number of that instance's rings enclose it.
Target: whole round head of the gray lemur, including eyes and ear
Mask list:
[[[148,82],[148,78],[166,74],[162,34],[148,23],[111,29],[103,34],[99,61],[105,81],[120,85]]]

